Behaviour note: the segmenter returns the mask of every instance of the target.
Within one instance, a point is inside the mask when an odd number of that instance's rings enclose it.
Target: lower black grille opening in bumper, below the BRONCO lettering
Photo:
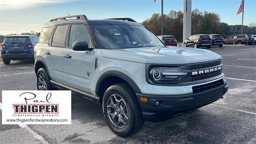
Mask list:
[[[193,93],[204,92],[206,90],[216,88],[216,87],[221,86],[223,84],[224,84],[224,81],[223,81],[223,79],[221,79],[221,80],[217,80],[215,82],[210,82],[208,84],[202,84],[200,86],[193,86],[192,90],[193,90]]]

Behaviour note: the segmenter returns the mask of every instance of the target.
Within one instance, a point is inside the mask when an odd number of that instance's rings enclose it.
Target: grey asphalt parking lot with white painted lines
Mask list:
[[[121,138],[108,128],[100,106],[73,96],[71,125],[0,125],[0,143],[255,144],[256,46],[210,50],[222,56],[229,85],[224,98],[210,105],[165,122],[145,122],[140,132]],[[32,61],[0,61],[0,90],[36,90],[33,66]]]

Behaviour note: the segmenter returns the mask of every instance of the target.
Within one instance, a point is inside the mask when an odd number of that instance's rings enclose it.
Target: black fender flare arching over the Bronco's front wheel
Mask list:
[[[95,88],[95,92],[96,92],[97,96],[99,96],[100,84],[102,83],[102,81],[105,78],[107,78],[109,76],[116,76],[116,77],[122,78],[123,80],[125,80],[132,87],[134,92],[141,93],[140,88],[137,86],[137,84],[129,76],[127,76],[123,72],[120,72],[120,71],[117,71],[117,70],[110,70],[108,72],[105,72],[104,74],[102,74],[98,78],[98,81],[96,83],[96,88]]]

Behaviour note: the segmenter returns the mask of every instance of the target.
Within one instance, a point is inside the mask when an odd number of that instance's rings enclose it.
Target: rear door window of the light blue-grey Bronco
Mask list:
[[[57,26],[52,37],[52,46],[64,46],[64,39],[67,27],[68,25]]]

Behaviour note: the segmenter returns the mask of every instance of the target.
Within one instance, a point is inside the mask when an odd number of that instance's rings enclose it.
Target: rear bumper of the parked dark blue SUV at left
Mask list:
[[[3,59],[9,59],[9,60],[25,60],[25,59],[34,59],[33,54],[28,53],[20,53],[20,54],[1,54]]]

